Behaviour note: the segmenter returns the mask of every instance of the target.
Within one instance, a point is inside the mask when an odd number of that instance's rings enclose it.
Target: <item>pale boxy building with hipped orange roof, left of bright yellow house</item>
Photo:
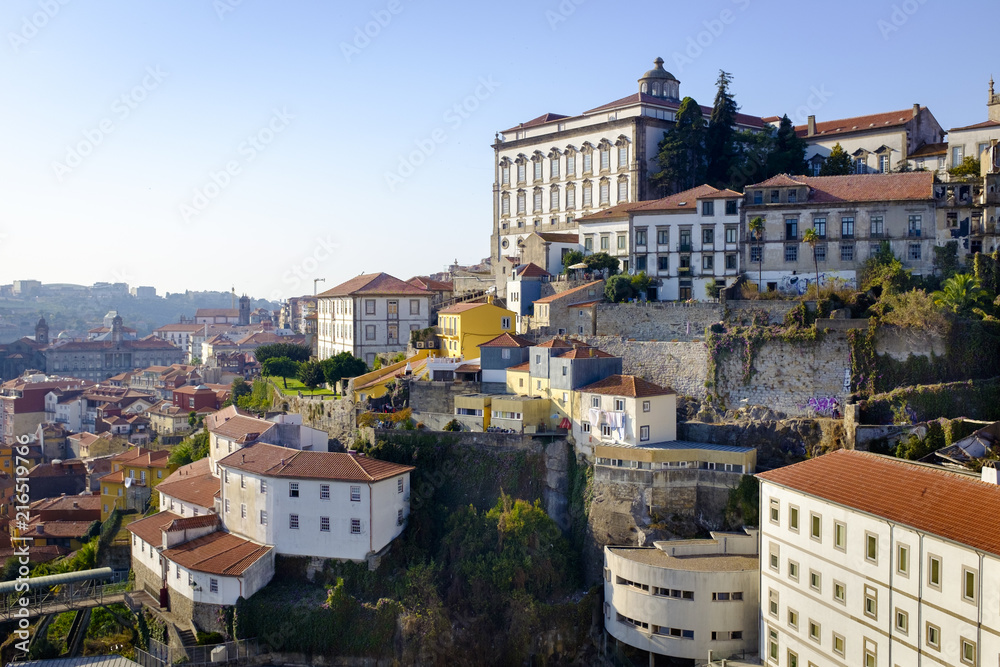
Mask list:
[[[404,352],[410,332],[430,324],[431,296],[386,273],[362,274],[321,293],[317,356],[349,352],[371,366],[377,354]]]

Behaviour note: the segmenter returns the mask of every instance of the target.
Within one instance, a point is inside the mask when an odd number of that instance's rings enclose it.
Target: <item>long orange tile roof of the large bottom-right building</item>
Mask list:
[[[757,477],[1000,555],[1000,486],[976,477],[846,449]]]

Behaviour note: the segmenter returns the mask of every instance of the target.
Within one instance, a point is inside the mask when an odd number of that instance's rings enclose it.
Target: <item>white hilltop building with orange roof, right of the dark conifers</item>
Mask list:
[[[777,125],[777,118],[768,121]],[[945,131],[927,107],[816,122],[809,116],[795,133],[807,144],[806,163],[813,176],[819,175],[826,157],[840,144],[853,159],[857,174],[895,171],[926,144],[944,141]],[[912,166],[912,165],[911,165]]]

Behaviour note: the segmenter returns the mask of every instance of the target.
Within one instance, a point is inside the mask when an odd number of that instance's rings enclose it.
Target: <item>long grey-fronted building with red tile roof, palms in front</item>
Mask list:
[[[936,205],[934,174],[788,176],[747,186],[744,218],[764,219],[763,240],[747,236],[744,270],[767,290],[804,294],[816,281],[856,284],[857,273],[888,241],[915,275],[933,271]],[[802,241],[812,227],[813,249]],[[763,263],[763,266],[761,264]]]

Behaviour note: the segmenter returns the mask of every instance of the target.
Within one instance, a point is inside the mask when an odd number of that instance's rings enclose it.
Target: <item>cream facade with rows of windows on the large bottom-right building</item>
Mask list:
[[[860,473],[864,463],[851,469]],[[871,492],[895,497],[892,482],[886,482]],[[981,484],[976,479],[961,483]],[[912,491],[915,496],[927,492],[924,483]],[[766,664],[996,664],[1000,559],[995,554],[766,476],[760,498],[761,655]],[[857,502],[866,501],[859,497]],[[905,507],[908,496],[894,502]],[[992,526],[992,519],[987,523]],[[970,537],[982,529],[967,526]]]

